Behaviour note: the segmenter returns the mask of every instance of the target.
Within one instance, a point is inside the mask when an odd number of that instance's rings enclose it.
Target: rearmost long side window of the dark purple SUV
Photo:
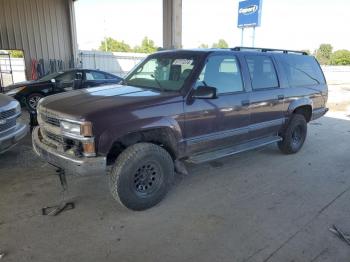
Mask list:
[[[314,57],[281,55],[280,59],[287,73],[290,86],[310,86],[325,83],[321,68]]]

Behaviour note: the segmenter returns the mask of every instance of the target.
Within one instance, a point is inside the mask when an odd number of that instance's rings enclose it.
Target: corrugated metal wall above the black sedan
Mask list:
[[[73,0],[0,0],[0,49],[24,51],[31,60],[62,60],[68,67],[76,48]]]

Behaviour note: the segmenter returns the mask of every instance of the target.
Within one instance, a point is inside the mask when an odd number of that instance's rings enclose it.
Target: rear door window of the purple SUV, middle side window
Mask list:
[[[278,87],[276,70],[270,57],[248,55],[246,61],[254,90]]]

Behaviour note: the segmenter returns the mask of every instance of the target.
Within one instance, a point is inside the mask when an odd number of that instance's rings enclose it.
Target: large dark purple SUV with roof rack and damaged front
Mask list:
[[[272,49],[164,51],[122,85],[50,96],[38,106],[35,152],[75,174],[106,173],[126,207],[168,191],[183,161],[202,163],[278,143],[298,152],[307,123],[327,112],[328,88],[313,56]]]

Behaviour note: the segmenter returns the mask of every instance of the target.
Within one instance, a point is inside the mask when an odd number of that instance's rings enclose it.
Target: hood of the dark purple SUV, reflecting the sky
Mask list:
[[[50,111],[72,116],[75,120],[89,119],[110,109],[120,109],[119,112],[165,103],[169,99],[182,99],[179,93],[159,92],[135,86],[108,85],[81,89],[45,97],[40,101],[40,107]],[[103,113],[102,113],[103,114]]]

